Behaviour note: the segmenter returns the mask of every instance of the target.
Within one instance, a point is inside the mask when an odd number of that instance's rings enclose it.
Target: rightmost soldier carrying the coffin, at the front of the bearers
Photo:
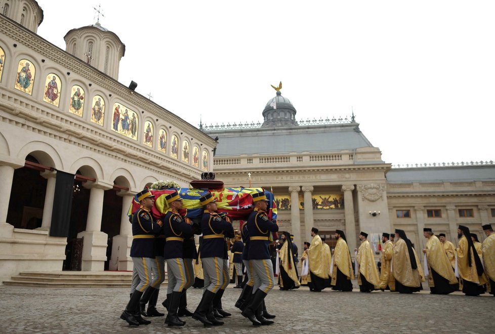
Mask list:
[[[273,265],[270,261],[269,237],[271,232],[278,231],[276,221],[270,221],[266,214],[269,201],[265,192],[253,194],[255,210],[247,219],[249,231],[249,251],[247,258],[253,268],[253,296],[250,304],[242,311],[242,315],[251,320],[253,325],[271,325],[273,321],[263,316],[263,300],[273,288]]]

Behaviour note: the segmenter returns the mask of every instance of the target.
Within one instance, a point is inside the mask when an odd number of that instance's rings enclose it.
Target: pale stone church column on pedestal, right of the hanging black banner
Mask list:
[[[77,234],[83,240],[83,271],[103,271],[108,244],[108,235],[100,231],[101,215],[103,212],[103,195],[105,190],[112,189],[113,185],[97,180],[84,185],[90,188],[90,204],[86,231]]]

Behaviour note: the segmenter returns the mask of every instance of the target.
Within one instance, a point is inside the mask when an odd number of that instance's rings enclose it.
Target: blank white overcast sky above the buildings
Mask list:
[[[100,23],[126,45],[119,81],[198,126],[262,121],[282,81],[297,119],[354,108],[393,164],[495,160],[495,1],[38,0],[65,50]]]

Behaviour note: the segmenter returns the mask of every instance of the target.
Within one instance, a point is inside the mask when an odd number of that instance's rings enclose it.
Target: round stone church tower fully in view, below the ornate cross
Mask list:
[[[120,58],[126,46],[100,22],[72,29],[64,36],[65,51],[118,80]]]

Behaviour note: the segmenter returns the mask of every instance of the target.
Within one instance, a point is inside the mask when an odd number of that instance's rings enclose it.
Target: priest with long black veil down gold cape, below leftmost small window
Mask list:
[[[425,281],[418,255],[403,230],[395,230],[395,239],[392,262],[395,290],[401,294],[418,292]]]

